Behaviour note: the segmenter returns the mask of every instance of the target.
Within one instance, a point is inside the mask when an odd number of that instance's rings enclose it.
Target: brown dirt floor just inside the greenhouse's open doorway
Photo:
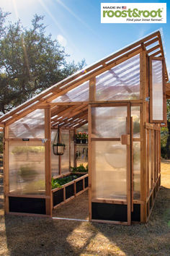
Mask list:
[[[75,197],[73,200],[61,205],[60,208],[53,210],[53,217],[88,220],[88,204],[88,190],[86,190],[86,192],[82,193],[78,197]]]

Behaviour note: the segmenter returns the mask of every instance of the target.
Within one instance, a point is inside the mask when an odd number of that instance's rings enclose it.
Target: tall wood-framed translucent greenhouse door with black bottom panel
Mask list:
[[[130,103],[89,106],[89,221],[131,223]]]

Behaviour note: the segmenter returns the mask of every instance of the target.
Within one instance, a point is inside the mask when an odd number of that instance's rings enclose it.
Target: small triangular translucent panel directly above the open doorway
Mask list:
[[[89,101],[89,81],[78,85],[76,88],[69,90],[68,93],[55,98],[52,102],[67,102],[67,101]]]

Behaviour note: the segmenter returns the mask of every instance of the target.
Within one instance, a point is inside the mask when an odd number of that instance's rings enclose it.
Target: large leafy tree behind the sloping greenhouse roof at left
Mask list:
[[[0,9],[2,27],[7,16]],[[66,62],[65,49],[45,35],[42,20],[35,14],[29,29],[18,21],[0,30],[0,114],[84,67],[84,60]]]

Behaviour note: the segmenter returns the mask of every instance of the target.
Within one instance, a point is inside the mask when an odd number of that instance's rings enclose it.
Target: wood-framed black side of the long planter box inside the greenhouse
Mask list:
[[[58,208],[89,188],[89,174],[85,174],[62,187],[52,189],[53,209]]]

